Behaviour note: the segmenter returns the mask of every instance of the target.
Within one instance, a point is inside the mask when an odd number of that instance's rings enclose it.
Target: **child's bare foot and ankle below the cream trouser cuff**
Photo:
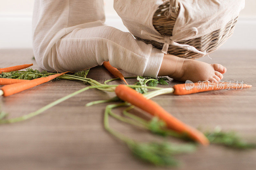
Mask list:
[[[169,64],[169,72],[167,74],[170,78],[179,81],[190,80],[192,82],[210,81],[220,82],[227,69],[221,64],[208,64],[196,60],[184,59],[174,55],[164,57],[158,76],[163,76],[161,73],[166,71],[164,67]],[[170,67],[172,69],[170,69]]]

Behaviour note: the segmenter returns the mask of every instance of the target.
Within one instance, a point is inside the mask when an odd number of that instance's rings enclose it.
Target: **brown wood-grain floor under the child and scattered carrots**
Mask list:
[[[31,49],[0,50],[0,67],[34,63]],[[193,127],[235,130],[256,142],[256,51],[218,51],[200,59],[227,67],[224,81],[244,81],[251,89],[204,92],[186,96],[163,95],[154,100]],[[125,76],[131,76],[123,72]],[[89,78],[104,82],[112,78],[101,66],[90,70]],[[132,83],[134,80],[128,80]],[[121,83],[116,81],[115,83]],[[177,81],[171,80],[169,85]],[[9,97],[0,104],[9,117],[33,112],[69,93],[83,88],[80,82],[60,80],[39,85]],[[84,107],[89,101],[109,99],[113,93],[92,89],[60,103],[24,122],[0,125],[0,169],[163,169],[134,158],[127,147],[103,128],[105,104]],[[116,110],[118,113],[120,110]],[[111,126],[140,141],[157,140],[147,131],[116,120]],[[180,155],[180,169],[254,170],[256,151],[237,151],[221,146],[200,147]]]

